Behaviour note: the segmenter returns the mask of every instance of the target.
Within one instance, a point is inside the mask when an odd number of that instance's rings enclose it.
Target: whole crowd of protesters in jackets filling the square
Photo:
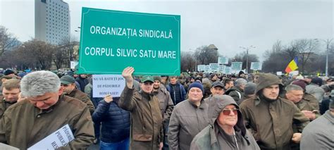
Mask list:
[[[4,70],[0,142],[28,149],[69,125],[55,149],[334,149],[334,78],[134,72],[96,98],[91,75]]]

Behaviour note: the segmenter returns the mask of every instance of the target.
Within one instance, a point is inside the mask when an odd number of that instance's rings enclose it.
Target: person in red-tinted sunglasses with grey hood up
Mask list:
[[[209,108],[209,125],[194,137],[190,149],[260,149],[231,96],[212,96]]]

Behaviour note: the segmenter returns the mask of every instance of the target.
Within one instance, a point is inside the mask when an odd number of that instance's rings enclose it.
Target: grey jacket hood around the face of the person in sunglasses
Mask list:
[[[239,106],[235,102],[235,100],[228,95],[214,95],[211,98],[211,101],[209,101],[209,111],[208,111],[208,118],[209,118],[209,124],[214,126],[214,123],[216,122],[219,113],[225,108],[225,106],[228,106],[230,104],[235,105],[236,108],[239,109]],[[235,127],[239,128],[242,132],[242,136],[246,135],[246,127],[244,124],[244,120],[242,118],[241,111],[237,111],[237,124]]]

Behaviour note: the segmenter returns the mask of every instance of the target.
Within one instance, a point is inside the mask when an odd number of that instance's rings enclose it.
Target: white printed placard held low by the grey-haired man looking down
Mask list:
[[[30,149],[58,149],[61,146],[66,146],[68,142],[71,142],[74,139],[73,133],[70,130],[70,126],[64,125],[51,135],[45,137],[37,144],[32,145]]]

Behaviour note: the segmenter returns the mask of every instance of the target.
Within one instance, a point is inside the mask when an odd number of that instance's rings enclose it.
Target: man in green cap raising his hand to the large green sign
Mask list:
[[[120,95],[119,106],[131,113],[130,149],[161,149],[163,144],[162,115],[159,100],[153,91],[153,77],[142,77],[141,90],[134,92],[132,67],[123,70],[126,86]]]

